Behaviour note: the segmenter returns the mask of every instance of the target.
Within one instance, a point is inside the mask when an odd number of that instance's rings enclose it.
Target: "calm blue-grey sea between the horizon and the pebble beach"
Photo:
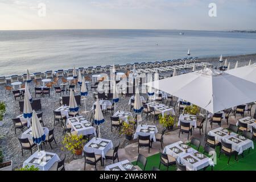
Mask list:
[[[256,52],[256,34],[179,30],[0,31],[0,76]]]

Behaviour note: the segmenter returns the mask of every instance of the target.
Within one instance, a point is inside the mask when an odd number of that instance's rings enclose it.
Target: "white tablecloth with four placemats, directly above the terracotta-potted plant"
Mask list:
[[[72,126],[71,131],[75,130],[78,135],[94,134],[96,136],[96,129],[83,116],[68,118],[67,123]]]

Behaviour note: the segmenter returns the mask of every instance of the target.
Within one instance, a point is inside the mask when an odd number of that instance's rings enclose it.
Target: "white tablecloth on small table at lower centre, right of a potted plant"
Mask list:
[[[149,129],[155,129],[155,130],[149,130]],[[138,125],[136,132],[134,134],[133,139],[137,139],[139,135],[141,136],[147,136],[150,135],[150,139],[153,139],[153,141],[156,141],[155,134],[158,133],[158,129],[154,125]]]

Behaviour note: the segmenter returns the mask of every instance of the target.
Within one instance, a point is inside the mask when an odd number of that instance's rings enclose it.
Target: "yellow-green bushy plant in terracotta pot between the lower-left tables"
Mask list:
[[[82,135],[67,134],[65,135],[62,144],[64,148],[66,148],[68,151],[71,151],[72,154],[81,155],[85,142],[86,140],[82,137]]]

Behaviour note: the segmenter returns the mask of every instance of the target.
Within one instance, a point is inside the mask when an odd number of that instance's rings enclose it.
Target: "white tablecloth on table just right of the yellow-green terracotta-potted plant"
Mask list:
[[[100,144],[102,142],[106,142],[108,144],[106,144],[106,146],[101,146]],[[90,146],[90,144],[98,144],[98,146],[101,146],[101,147],[92,147]],[[108,139],[102,139],[102,138],[97,138],[94,137],[92,138],[88,143],[85,144],[84,146],[84,150],[86,152],[94,152],[94,154],[96,155],[101,155],[102,158],[105,158],[105,154],[113,148],[113,143],[112,143],[112,140],[108,140]]]

